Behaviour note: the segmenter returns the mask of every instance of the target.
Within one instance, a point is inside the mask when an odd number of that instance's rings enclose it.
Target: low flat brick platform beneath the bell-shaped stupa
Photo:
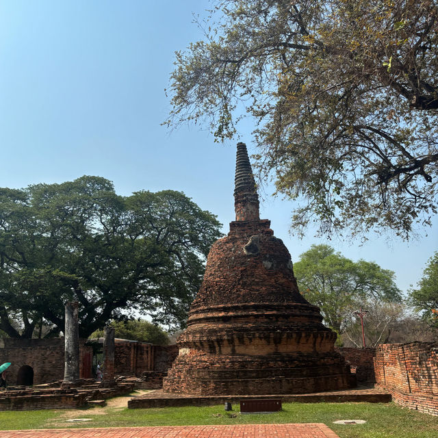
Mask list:
[[[312,394],[270,394],[264,396],[196,396],[190,394],[170,394],[162,389],[156,389],[128,401],[129,409],[164,408],[180,406],[214,406],[215,404],[238,404],[240,400],[250,398],[281,398],[284,403],[318,403],[318,402],[368,402],[388,403],[391,394],[374,387],[359,387],[341,391],[316,392]]]

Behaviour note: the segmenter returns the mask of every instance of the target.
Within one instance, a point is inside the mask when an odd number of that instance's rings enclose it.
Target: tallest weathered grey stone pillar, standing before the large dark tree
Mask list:
[[[66,322],[64,328],[65,368],[62,385],[79,383],[79,324],[78,302],[66,303]]]

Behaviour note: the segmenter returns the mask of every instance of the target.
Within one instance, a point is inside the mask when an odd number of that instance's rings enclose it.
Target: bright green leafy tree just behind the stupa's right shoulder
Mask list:
[[[320,307],[324,323],[344,333],[350,315],[367,300],[400,302],[394,272],[374,262],[354,262],[329,245],[312,245],[294,263],[294,274],[301,294]]]

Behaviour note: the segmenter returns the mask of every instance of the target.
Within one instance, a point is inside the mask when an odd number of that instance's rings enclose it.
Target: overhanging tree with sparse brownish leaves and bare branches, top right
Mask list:
[[[392,230],[437,213],[438,34],[430,0],[222,0],[177,52],[168,125],[218,140],[246,113],[292,227]]]

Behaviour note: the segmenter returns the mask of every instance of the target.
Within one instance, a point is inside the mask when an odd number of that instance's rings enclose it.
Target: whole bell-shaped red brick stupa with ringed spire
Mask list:
[[[352,386],[334,350],[336,334],[298,292],[287,248],[270,221],[259,218],[243,143],[237,144],[234,198],[236,220],[211,247],[164,391],[300,394]]]

